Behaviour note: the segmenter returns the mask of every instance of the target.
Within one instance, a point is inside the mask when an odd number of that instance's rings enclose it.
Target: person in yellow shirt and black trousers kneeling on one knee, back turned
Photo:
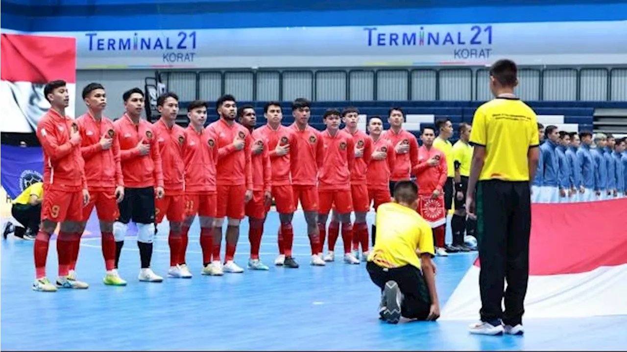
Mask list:
[[[401,316],[435,320],[440,304],[435,288],[435,255],[431,226],[416,212],[418,186],[399,181],[394,202],[377,209],[377,242],[366,269],[381,289],[379,316],[396,324]]]

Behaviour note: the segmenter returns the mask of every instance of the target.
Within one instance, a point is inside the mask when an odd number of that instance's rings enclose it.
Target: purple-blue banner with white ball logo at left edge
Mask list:
[[[43,180],[41,147],[0,145],[0,185],[15,199],[29,185]]]

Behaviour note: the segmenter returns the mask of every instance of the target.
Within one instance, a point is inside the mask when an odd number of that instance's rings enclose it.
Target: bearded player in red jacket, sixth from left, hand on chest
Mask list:
[[[236,101],[232,95],[223,95],[216,101],[219,120],[211,123],[208,130],[218,142],[217,208],[214,222],[213,262],[216,273],[244,272],[233,258],[240,239],[240,222],[244,219],[246,203],[253,197],[253,173],[251,168],[252,138],[246,127],[235,122]],[[226,256],[224,266],[220,261],[222,225],[226,227]]]

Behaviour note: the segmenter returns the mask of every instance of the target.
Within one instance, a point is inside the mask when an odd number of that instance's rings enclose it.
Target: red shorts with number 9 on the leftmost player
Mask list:
[[[46,187],[41,204],[41,220],[54,222],[83,220],[83,191],[68,192]]]

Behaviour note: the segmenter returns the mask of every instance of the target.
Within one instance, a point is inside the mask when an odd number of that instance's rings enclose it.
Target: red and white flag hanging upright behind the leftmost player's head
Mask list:
[[[76,38],[0,34],[0,131],[32,133],[50,108],[43,95],[49,81],[68,83],[74,117]]]

